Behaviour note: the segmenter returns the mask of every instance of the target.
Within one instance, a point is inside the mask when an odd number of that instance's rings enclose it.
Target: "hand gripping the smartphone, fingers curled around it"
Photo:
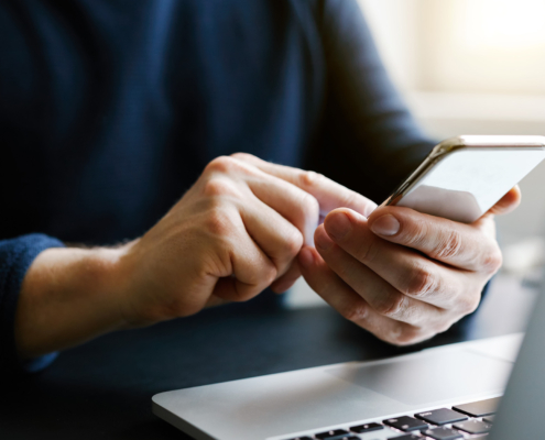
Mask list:
[[[472,224],[401,207],[380,207],[369,219],[336,209],[299,265],[344,317],[390,343],[416,343],[477,308],[502,261],[493,217],[519,202],[515,187]]]

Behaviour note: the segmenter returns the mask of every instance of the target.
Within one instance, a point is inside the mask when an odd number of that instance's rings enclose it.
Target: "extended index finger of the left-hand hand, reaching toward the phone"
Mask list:
[[[291,166],[272,164],[247,153],[236,153],[232,156],[310,194],[318,200],[321,216],[327,216],[329,211],[336,208],[350,208],[369,217],[377,208],[374,201],[348,189],[346,186],[337,184],[321,174],[293,168]]]

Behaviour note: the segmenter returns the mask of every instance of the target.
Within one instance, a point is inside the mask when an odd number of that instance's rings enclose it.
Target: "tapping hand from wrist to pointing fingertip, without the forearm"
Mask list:
[[[214,160],[197,183],[120,258],[124,317],[145,324],[244,301],[299,277],[296,255],[313,244],[323,213],[374,204],[312,172],[249,154]]]

